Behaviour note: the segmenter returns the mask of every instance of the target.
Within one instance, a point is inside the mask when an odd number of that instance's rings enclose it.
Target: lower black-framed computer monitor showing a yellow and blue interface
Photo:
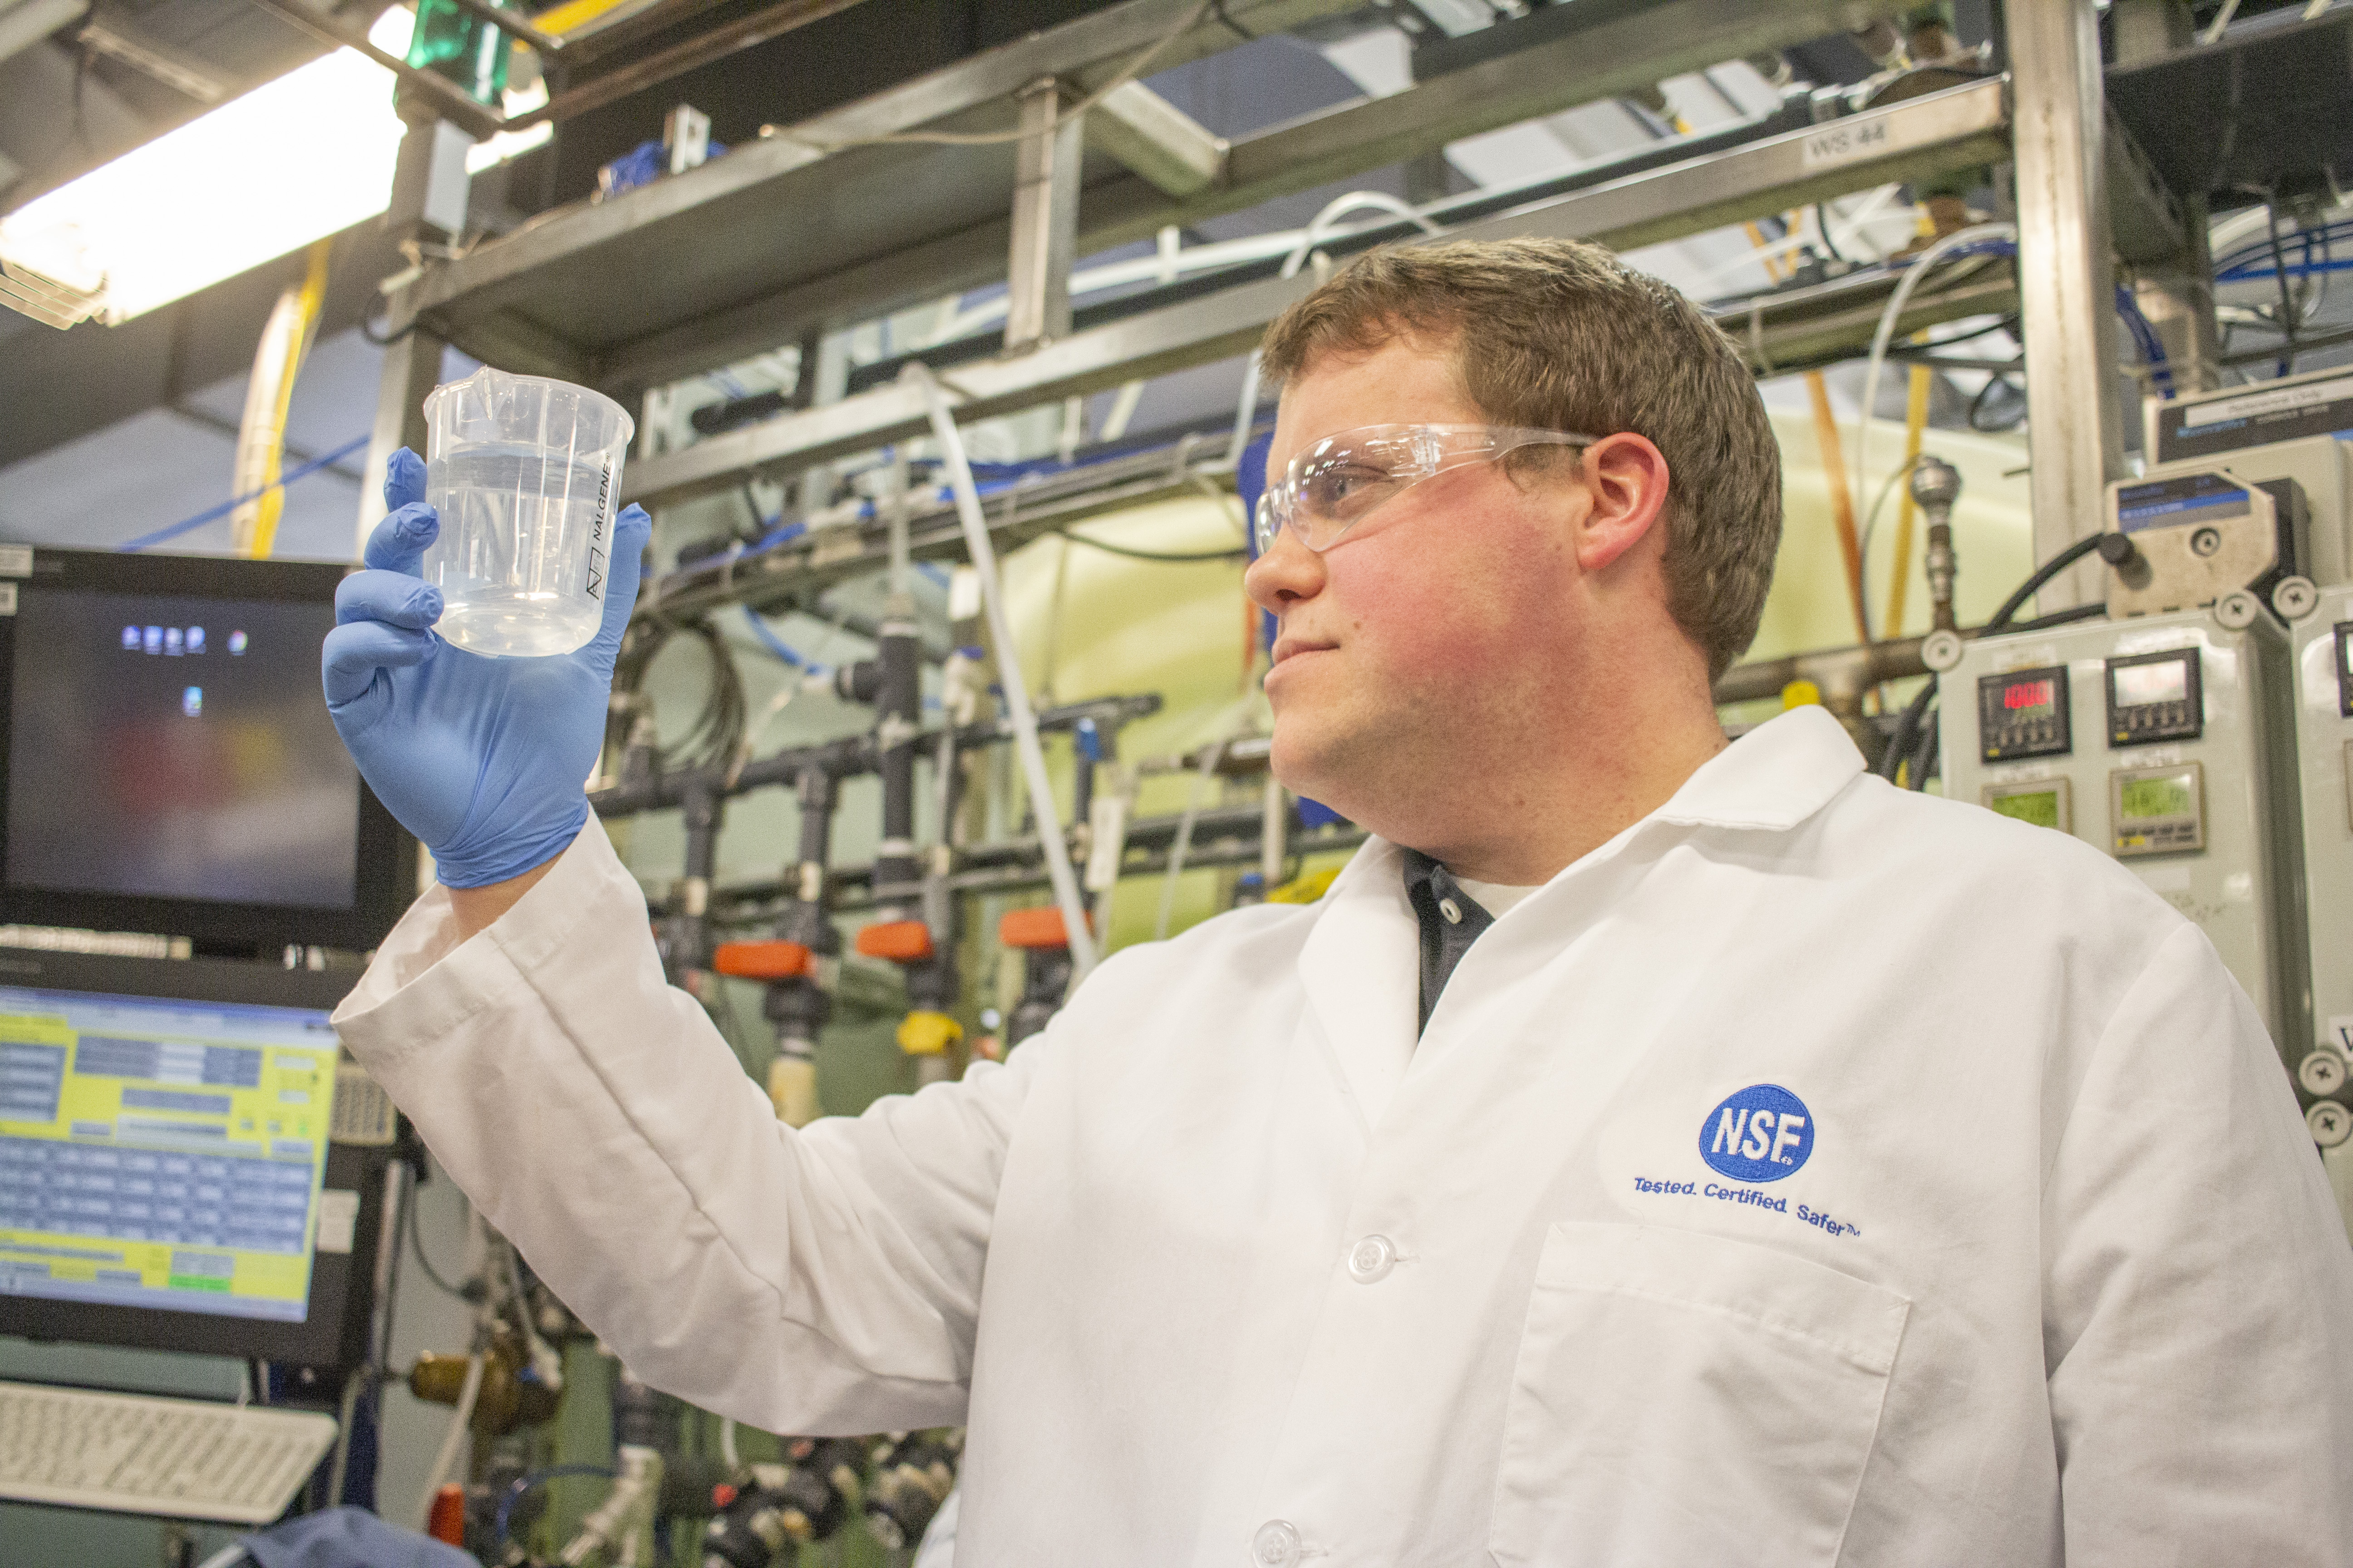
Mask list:
[[[0,950],[0,1333],[365,1361],[388,1152],[332,1138],[353,978]]]

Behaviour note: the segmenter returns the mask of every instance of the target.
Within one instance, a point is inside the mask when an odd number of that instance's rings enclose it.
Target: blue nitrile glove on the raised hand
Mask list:
[[[605,698],[654,531],[624,508],[612,534],[605,625],[555,658],[482,658],[428,628],[442,597],[416,578],[440,517],[426,465],[386,465],[391,515],[367,538],[369,571],[334,592],[322,651],[327,712],[376,799],[433,851],[445,886],[520,877],[560,856],[588,820],[584,780],[605,743]]]

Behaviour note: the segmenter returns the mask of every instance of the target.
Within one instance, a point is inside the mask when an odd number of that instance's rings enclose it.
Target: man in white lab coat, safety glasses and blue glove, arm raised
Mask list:
[[[798,1133],[565,792],[602,639],[459,663],[395,510],[327,689],[456,886],[339,1025],[487,1218],[656,1387],[967,1422],[965,1568],[2353,1563],[2353,1255],[2207,940],[1821,710],[1725,745],[1732,346],[1431,244],[1268,369],[1275,771],[1379,837]]]

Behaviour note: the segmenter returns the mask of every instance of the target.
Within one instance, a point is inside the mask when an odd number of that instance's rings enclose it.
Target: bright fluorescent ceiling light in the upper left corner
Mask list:
[[[412,28],[393,7],[367,38],[405,54]],[[480,143],[468,169],[546,141],[548,127],[534,129]],[[0,219],[0,259],[122,324],[379,216],[400,134],[393,73],[336,49],[26,202]]]

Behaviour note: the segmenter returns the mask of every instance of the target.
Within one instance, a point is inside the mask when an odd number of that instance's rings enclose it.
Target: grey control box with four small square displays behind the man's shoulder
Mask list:
[[[2353,604],[2341,618],[2353,623]],[[1946,797],[2115,856],[2205,929],[2292,1065],[2308,1027],[2308,959],[2287,656],[2271,616],[2233,630],[2212,611],[1984,637],[1939,677],[1939,722]],[[2320,661],[2337,658],[2329,642]],[[1977,701],[1953,701],[1960,691]],[[2353,741],[2334,701],[2332,689],[2332,722]],[[2353,827],[2344,755],[2337,788],[2339,827]],[[2353,863],[2353,832],[2344,837]],[[2353,954],[2353,898],[2339,903]],[[2344,1011],[2353,1027],[2353,990]]]

